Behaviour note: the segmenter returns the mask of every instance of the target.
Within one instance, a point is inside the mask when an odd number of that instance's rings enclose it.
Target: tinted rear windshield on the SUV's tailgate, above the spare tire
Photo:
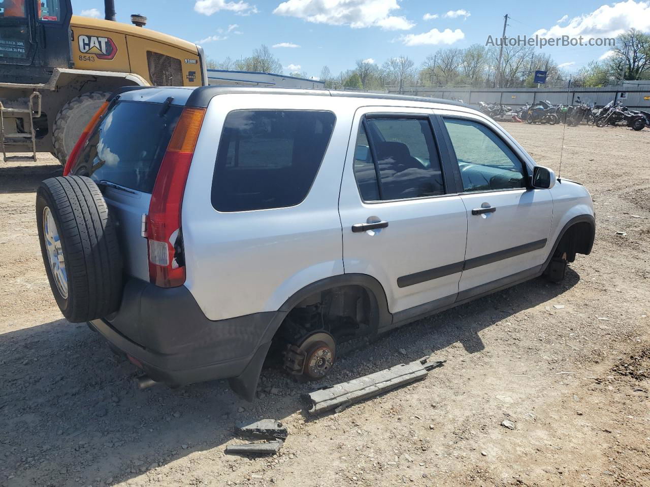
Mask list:
[[[151,193],[182,106],[118,101],[81,151],[74,174]]]

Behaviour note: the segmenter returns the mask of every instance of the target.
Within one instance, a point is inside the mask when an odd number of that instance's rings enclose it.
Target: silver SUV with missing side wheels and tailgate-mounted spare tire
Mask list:
[[[170,386],[252,399],[271,350],[318,379],[345,342],[588,255],[587,190],[470,106],[276,88],[118,92],[38,190],[66,318]],[[355,340],[357,341],[357,340]]]

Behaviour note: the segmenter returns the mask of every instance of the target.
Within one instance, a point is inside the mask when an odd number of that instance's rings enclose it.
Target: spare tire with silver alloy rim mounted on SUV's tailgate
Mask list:
[[[73,323],[118,310],[122,256],[114,222],[92,179],[53,177],[36,192],[45,272],[57,305]]]

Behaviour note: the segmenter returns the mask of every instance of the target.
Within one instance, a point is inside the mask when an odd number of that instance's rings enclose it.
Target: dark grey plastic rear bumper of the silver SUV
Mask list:
[[[250,400],[285,314],[262,312],[212,321],[185,286],[159,288],[131,278],[120,310],[90,323],[140,362],[155,381],[177,386],[232,379],[233,389]]]

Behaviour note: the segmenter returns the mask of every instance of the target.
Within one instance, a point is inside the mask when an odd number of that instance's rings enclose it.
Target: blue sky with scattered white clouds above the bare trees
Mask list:
[[[103,1],[73,0],[75,14],[101,16]],[[136,6],[134,5],[136,4]],[[635,27],[650,31],[650,1],[603,0],[543,5],[526,1],[422,0],[116,0],[118,21],[131,14],[148,18],[147,27],[192,42],[201,42],[207,56],[248,56],[266,44],[285,73],[318,75],[322,66],[333,74],[352,68],[357,59],[382,64],[406,55],[420,64],[445,47],[485,44],[498,37],[509,14],[508,36],[616,36]],[[272,47],[276,46],[276,47]],[[569,71],[585,66],[606,47],[545,47]]]

